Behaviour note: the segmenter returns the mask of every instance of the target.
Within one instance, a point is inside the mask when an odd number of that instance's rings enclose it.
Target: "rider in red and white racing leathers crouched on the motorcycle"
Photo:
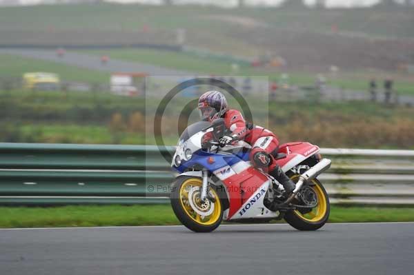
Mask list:
[[[219,139],[221,147],[234,141],[244,140],[250,144],[250,161],[257,168],[273,176],[281,183],[286,190],[285,197],[288,197],[295,189],[295,183],[277,165],[275,157],[279,149],[277,136],[263,127],[246,123],[238,110],[228,109],[226,97],[218,91],[209,91],[202,94],[198,101],[198,109],[204,121],[213,122],[215,119],[224,119],[226,129],[231,134],[222,136]],[[213,136],[206,134],[204,140],[212,139]]]

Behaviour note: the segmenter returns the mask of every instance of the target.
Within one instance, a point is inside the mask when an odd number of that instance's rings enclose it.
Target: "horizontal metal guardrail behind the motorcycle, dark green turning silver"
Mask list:
[[[333,160],[319,176],[332,203],[414,205],[414,151],[321,153]],[[3,205],[168,203],[172,180],[157,146],[0,143]]]

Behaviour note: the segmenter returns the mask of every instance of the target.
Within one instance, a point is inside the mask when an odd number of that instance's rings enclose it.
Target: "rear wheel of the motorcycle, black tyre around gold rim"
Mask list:
[[[299,175],[291,178],[293,181],[299,179]],[[331,210],[328,194],[322,183],[317,179],[312,180],[312,185],[306,185],[311,188],[313,196],[317,199],[317,205],[312,209],[297,209],[286,212],[285,221],[295,227],[297,230],[318,230],[324,226],[329,218]]]

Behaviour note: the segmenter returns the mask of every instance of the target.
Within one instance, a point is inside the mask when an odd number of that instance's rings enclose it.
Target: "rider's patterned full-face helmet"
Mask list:
[[[201,119],[212,122],[226,113],[226,97],[218,91],[205,92],[199,98],[198,108]]]

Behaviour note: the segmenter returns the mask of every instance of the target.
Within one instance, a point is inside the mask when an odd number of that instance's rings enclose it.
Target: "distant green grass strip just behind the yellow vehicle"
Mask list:
[[[13,54],[0,54],[0,77],[21,79],[25,72],[55,72],[62,81],[88,83],[109,83],[110,74],[78,68],[71,65],[19,57]]]

